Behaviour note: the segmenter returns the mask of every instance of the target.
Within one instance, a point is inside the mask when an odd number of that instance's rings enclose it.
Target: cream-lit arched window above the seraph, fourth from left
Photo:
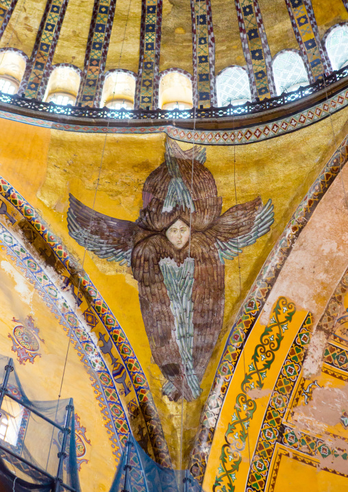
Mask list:
[[[162,110],[190,110],[192,106],[192,82],[190,77],[175,71],[162,75],[158,107]]]

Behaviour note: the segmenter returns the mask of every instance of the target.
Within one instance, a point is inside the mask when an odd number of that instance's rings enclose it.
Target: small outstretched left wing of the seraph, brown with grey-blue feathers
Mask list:
[[[134,222],[95,212],[71,194],[69,203],[68,229],[71,237],[99,258],[130,266],[134,244],[149,232]]]

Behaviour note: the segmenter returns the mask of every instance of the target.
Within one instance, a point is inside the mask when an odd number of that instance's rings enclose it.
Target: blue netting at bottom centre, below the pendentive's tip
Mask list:
[[[190,471],[161,467],[129,435],[110,492],[203,492]]]

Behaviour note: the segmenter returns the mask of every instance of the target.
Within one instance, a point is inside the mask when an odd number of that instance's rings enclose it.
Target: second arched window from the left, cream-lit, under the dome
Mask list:
[[[74,106],[79,83],[79,73],[73,67],[56,66],[49,76],[45,101],[60,106]]]

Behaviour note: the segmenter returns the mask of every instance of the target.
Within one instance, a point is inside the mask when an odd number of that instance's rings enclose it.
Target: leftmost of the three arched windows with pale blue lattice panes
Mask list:
[[[216,77],[216,94],[219,108],[251,101],[247,71],[241,66],[228,66]]]

